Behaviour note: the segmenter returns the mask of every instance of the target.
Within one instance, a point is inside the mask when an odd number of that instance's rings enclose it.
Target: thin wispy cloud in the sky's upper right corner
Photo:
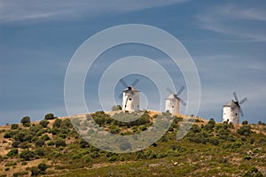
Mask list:
[[[265,42],[266,12],[259,6],[219,5],[196,15],[200,27],[233,35],[240,41]]]

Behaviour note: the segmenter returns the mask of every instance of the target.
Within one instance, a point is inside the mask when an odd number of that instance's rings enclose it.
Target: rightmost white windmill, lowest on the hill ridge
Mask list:
[[[236,101],[230,100],[227,104],[223,105],[223,122],[227,121],[228,123],[239,124],[239,112],[241,116],[244,116],[240,105],[244,104],[247,98],[245,97],[239,102],[236,92],[233,93],[233,96]]]

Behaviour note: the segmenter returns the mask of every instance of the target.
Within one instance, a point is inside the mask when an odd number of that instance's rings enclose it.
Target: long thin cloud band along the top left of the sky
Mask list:
[[[0,0],[0,22],[29,19],[76,19],[83,16],[96,17],[106,14],[134,12],[169,4],[178,4],[187,0],[65,0],[65,1],[14,1]]]

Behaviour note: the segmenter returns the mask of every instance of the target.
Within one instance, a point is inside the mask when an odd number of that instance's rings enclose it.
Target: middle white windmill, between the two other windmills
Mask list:
[[[165,112],[170,112],[171,114],[179,114],[179,104],[181,103],[184,106],[186,105],[184,100],[179,97],[179,95],[184,90],[184,86],[182,86],[176,94],[169,88],[167,88],[167,90],[170,93],[170,96],[165,99]]]

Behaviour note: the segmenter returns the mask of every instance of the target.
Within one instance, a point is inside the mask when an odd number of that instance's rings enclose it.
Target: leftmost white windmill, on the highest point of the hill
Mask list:
[[[139,111],[139,92],[134,86],[139,80],[135,80],[130,86],[120,80],[121,84],[126,88],[122,92],[122,111],[136,112]]]

